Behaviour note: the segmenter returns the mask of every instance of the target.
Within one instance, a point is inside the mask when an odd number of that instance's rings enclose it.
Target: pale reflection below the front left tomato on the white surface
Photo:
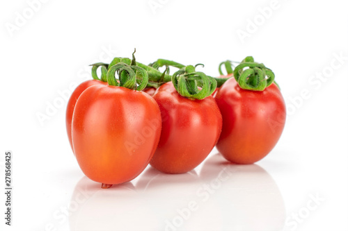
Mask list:
[[[143,198],[136,193],[132,182],[103,190],[100,185],[84,176],[75,186],[70,200],[70,230],[114,231],[139,230],[141,225],[148,227],[145,225],[150,225],[153,217],[145,212],[147,207],[143,203]],[[61,216],[67,217],[63,212]],[[137,218],[136,223],[132,223],[134,217]]]

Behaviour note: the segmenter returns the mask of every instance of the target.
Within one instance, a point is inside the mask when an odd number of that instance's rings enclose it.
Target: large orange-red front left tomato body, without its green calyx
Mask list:
[[[84,174],[116,185],[136,178],[155,153],[161,112],[145,92],[95,85],[75,105],[72,144]]]

